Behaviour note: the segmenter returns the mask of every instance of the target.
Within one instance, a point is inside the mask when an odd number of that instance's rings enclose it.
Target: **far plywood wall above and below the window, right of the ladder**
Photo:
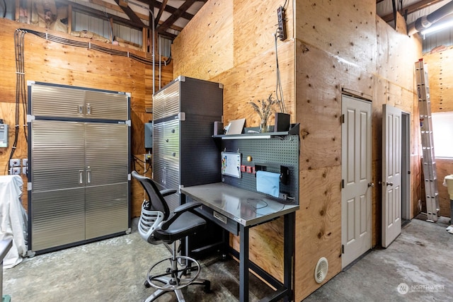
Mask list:
[[[453,111],[453,47],[436,47],[423,54],[428,65],[431,112]],[[450,216],[450,202],[447,187],[442,185],[445,176],[453,174],[452,159],[436,159],[437,189],[440,197],[440,215]]]

